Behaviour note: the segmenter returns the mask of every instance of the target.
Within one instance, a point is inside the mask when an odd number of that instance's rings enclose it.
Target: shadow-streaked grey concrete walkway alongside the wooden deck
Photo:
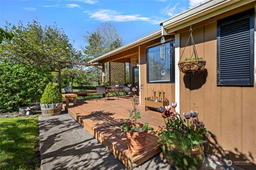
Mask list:
[[[126,169],[69,114],[39,116],[42,169]],[[205,159],[203,169],[225,169]],[[171,169],[159,155],[135,169]]]

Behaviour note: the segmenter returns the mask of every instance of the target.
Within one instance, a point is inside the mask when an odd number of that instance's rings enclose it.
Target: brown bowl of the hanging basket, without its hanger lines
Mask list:
[[[198,74],[200,72],[203,72],[205,69],[205,60],[199,60],[199,61],[184,61],[179,62],[178,66],[182,73],[185,74]]]

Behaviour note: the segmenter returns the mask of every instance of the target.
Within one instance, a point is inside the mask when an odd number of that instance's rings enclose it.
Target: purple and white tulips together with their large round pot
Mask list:
[[[175,169],[200,169],[204,162],[204,140],[206,132],[204,123],[198,119],[198,113],[183,113],[184,118],[175,111],[177,103],[171,106],[158,107],[162,113],[165,128],[159,131],[159,142],[162,143],[163,155]]]

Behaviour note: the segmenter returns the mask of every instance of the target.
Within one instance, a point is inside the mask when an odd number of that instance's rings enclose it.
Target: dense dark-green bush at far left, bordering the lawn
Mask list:
[[[51,74],[33,65],[0,62],[0,112],[39,101]]]

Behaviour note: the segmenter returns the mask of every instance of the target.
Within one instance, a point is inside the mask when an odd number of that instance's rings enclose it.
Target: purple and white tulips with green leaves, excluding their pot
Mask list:
[[[204,128],[204,123],[198,119],[197,112],[185,112],[185,118],[181,118],[175,107],[177,103],[157,108],[157,111],[162,113],[166,125],[166,129],[159,131],[159,141],[163,144],[163,150],[174,148],[187,156],[190,156],[191,150],[199,150],[202,153],[201,145],[207,143],[207,140],[203,140],[204,134],[210,131]]]

